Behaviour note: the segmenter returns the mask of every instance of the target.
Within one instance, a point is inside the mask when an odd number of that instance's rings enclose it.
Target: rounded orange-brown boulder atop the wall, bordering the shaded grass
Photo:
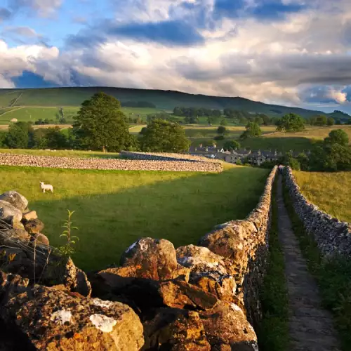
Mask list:
[[[123,267],[133,267],[133,277],[166,280],[173,278],[178,263],[176,249],[165,239],[143,238],[132,244],[121,257]]]

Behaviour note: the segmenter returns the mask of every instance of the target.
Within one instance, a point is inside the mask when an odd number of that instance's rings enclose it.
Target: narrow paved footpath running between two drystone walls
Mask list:
[[[283,199],[282,176],[277,189],[279,240],[284,251],[289,292],[291,351],[339,351],[331,314],[322,308],[314,278],[291,227]]]

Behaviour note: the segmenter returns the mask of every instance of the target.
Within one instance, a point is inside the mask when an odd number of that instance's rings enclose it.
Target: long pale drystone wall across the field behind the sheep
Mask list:
[[[47,168],[97,169],[114,171],[183,171],[183,172],[222,172],[220,162],[153,160],[153,159],[80,159],[72,157],[33,156],[25,154],[0,153],[0,165],[32,166]]]

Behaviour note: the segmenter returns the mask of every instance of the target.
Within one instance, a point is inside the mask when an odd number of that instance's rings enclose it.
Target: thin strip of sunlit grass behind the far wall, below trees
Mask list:
[[[80,151],[80,150],[34,150],[34,149],[0,149],[0,153],[6,154],[31,154],[34,156],[56,156],[56,157],[75,157],[75,158],[90,158],[111,159],[118,158],[117,152],[98,152],[98,151]]]

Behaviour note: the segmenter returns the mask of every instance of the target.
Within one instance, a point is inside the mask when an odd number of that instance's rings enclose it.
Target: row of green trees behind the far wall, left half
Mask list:
[[[150,119],[140,138],[129,133],[121,103],[105,93],[96,93],[81,104],[73,117],[73,127],[61,131],[59,127],[34,129],[30,122],[16,122],[7,132],[0,133],[0,147],[19,149],[143,150],[185,152],[190,141],[179,124],[160,118]]]

